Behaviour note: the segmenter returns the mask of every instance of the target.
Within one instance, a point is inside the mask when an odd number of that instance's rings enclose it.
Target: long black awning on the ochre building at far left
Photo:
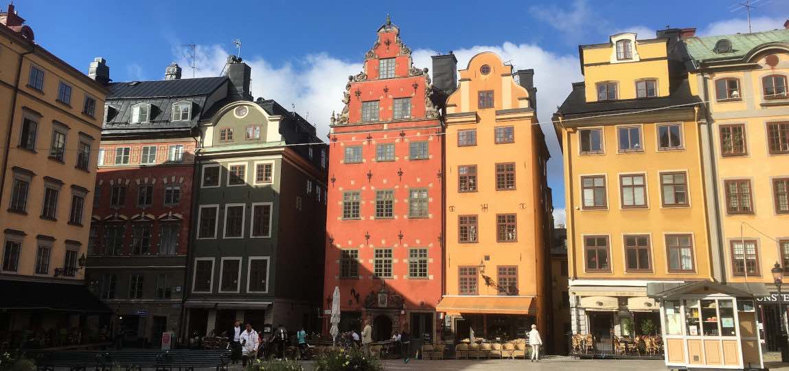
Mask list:
[[[0,279],[0,296],[0,309],[112,313],[82,284]]]

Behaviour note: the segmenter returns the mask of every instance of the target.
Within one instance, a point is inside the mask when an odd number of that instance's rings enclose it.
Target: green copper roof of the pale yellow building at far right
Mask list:
[[[717,54],[715,44],[720,39],[728,39],[731,42],[731,53]],[[690,58],[698,62],[709,62],[726,59],[739,59],[744,57],[754,47],[764,43],[789,43],[789,29],[780,29],[765,32],[736,33],[734,35],[691,37],[685,39],[687,51]]]

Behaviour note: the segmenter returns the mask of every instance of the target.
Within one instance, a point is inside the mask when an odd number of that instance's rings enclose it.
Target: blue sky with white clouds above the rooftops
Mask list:
[[[581,81],[579,43],[603,43],[617,32],[653,38],[667,25],[697,34],[747,32],[745,13],[731,1],[114,1],[17,0],[17,11],[36,41],[78,69],[101,56],[114,81],[158,80],[170,62],[189,65],[185,44],[196,44],[196,76],[216,76],[241,39],[241,57],[252,66],[252,93],[276,99],[327,132],[332,110],[342,109],[346,77],[361,70],[365,51],[386,14],[401,28],[414,65],[454,51],[458,66],[479,51],[495,51],[518,69],[534,68],[537,111],[553,159],[549,185],[555,216],[564,218],[561,154],[548,121]],[[753,31],[781,28],[789,0],[772,0],[751,14]],[[191,77],[184,69],[184,77]],[[291,106],[293,105],[293,106]]]

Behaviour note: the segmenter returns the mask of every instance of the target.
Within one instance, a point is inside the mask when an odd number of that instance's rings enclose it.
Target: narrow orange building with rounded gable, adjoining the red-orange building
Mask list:
[[[438,310],[457,339],[522,338],[531,324],[548,339],[548,150],[534,125],[533,70],[513,73],[485,52],[460,70],[459,81],[447,100]]]

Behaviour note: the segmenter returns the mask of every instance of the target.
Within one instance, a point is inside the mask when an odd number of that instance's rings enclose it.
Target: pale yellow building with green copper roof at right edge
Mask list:
[[[771,269],[789,275],[789,29],[684,43],[692,88],[708,107],[711,245],[725,280],[768,284],[757,313],[765,350],[775,351],[781,314]]]

